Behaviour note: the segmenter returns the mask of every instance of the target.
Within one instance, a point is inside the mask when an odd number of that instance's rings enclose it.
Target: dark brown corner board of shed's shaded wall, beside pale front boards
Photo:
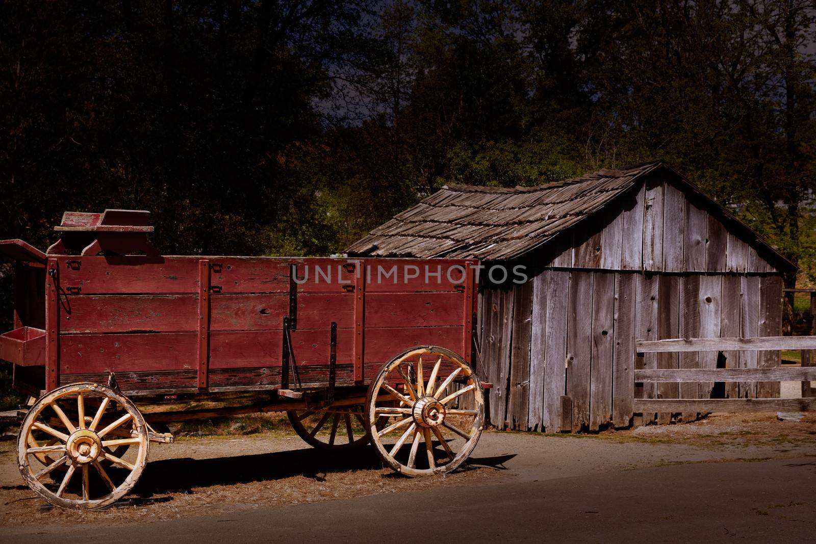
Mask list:
[[[533,280],[513,286],[512,347],[510,349],[510,427],[527,431],[530,401],[530,334],[533,324]]]

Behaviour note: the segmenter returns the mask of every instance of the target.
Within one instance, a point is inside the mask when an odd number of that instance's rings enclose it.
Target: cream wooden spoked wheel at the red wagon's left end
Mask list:
[[[100,405],[88,422],[86,402],[91,399],[100,399]],[[106,417],[109,405],[118,405],[122,415]],[[132,446],[131,460],[110,453],[119,446]],[[17,438],[17,461],[29,487],[51,504],[100,508],[133,488],[144,471],[148,449],[147,425],[130,400],[109,387],[74,383],[47,393],[29,409]],[[42,469],[32,466],[31,459],[39,453],[55,460]],[[103,460],[111,466],[104,467]],[[64,474],[56,472],[59,467],[67,467]],[[76,473],[81,477],[74,478]],[[43,481],[48,476],[53,483]]]

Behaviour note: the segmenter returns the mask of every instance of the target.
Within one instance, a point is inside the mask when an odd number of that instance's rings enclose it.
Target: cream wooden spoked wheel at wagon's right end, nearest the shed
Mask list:
[[[459,390],[456,378],[464,380]],[[377,429],[375,418],[381,416],[391,419]],[[379,371],[366,398],[368,433],[379,457],[409,476],[459,467],[476,447],[484,418],[481,382],[460,356],[441,347],[415,347],[394,357]],[[418,455],[420,442],[424,454]]]

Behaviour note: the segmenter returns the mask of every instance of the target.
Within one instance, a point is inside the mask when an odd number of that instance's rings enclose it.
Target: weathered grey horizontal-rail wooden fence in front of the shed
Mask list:
[[[767,352],[775,350],[814,350],[816,336],[766,336],[761,338],[672,338],[636,341],[637,356],[646,353],[682,352]],[[803,360],[804,363],[804,360]],[[636,365],[637,368],[638,365]],[[642,365],[640,365],[642,368]],[[816,366],[756,369],[636,369],[636,383],[716,383],[716,382],[797,382],[809,394],[809,383],[816,380]],[[805,383],[808,387],[805,388]],[[634,412],[794,412],[816,411],[816,395],[800,399],[634,399]]]

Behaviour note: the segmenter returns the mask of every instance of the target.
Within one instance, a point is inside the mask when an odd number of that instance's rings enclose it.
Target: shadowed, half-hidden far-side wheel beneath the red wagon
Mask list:
[[[353,449],[369,443],[363,417],[365,412],[365,405],[350,405],[292,410],[286,415],[306,444],[318,449]],[[386,418],[379,418],[379,428],[384,427],[386,421]],[[357,428],[356,423],[359,424]]]

